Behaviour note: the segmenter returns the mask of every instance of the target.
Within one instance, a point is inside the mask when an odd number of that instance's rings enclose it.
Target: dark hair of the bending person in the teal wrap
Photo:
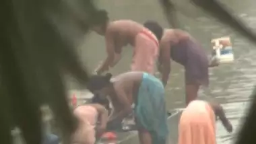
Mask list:
[[[111,77],[111,73],[106,73],[106,75],[92,75],[88,80],[87,87],[90,92],[94,93],[94,91],[100,90],[110,84]]]

